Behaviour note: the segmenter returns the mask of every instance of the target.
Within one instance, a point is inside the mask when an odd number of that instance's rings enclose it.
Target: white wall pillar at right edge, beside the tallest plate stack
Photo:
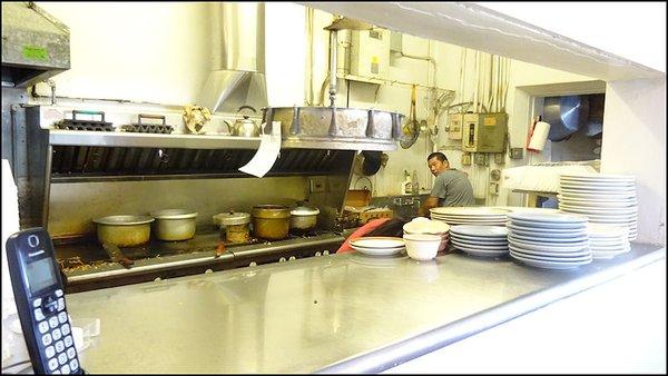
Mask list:
[[[666,80],[608,82],[601,171],[636,175],[638,241],[666,244]]]

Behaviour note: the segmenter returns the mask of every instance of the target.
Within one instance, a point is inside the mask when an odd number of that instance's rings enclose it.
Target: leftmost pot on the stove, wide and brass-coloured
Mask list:
[[[117,247],[136,247],[150,238],[149,216],[108,216],[94,219],[97,224],[98,240]]]

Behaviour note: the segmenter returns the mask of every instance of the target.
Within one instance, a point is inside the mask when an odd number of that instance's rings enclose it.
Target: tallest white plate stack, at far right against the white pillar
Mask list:
[[[626,226],[629,240],[638,237],[636,177],[610,174],[559,176],[559,209],[580,214],[593,224]]]

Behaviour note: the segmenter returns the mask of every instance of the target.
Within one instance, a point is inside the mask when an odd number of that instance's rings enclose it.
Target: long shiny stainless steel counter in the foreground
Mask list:
[[[661,258],[632,244],[560,271],[351,253],[68,294],[67,306],[101,320],[80,353],[91,374],[381,372]]]

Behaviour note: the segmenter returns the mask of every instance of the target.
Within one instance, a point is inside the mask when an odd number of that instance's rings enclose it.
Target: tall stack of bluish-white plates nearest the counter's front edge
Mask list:
[[[508,248],[515,260],[546,269],[572,269],[591,263],[587,217],[513,212],[508,219]]]

